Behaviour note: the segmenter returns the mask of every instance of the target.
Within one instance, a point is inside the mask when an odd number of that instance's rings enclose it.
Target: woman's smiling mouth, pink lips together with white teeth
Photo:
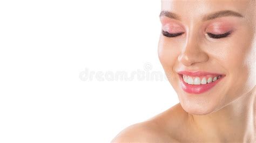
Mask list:
[[[190,94],[201,94],[213,88],[224,74],[208,73],[204,71],[179,71],[181,88]]]

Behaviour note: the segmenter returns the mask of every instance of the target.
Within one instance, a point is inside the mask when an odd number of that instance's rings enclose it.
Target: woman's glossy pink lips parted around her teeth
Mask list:
[[[211,88],[213,88],[216,84],[218,84],[225,77],[224,74],[210,73],[210,72],[205,72],[205,71],[185,71],[185,70],[183,70],[183,71],[178,71],[177,73],[179,74],[181,88],[185,92],[188,92],[190,94],[202,94],[203,92],[206,92],[206,91],[210,90]],[[186,83],[184,81],[183,75],[191,76],[191,77],[220,76],[220,78],[218,78],[218,80],[211,82],[211,83],[195,85],[195,84]]]

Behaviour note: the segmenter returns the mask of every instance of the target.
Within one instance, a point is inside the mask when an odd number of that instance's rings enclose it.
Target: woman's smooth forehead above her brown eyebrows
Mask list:
[[[255,15],[254,0],[162,0],[161,10],[177,13],[181,20],[196,19],[220,10],[232,10],[246,17]]]

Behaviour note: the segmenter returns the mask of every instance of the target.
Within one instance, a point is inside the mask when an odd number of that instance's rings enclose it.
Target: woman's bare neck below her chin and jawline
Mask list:
[[[191,126],[201,131],[204,138],[218,141],[256,141],[256,87],[248,94],[214,113],[190,115]]]

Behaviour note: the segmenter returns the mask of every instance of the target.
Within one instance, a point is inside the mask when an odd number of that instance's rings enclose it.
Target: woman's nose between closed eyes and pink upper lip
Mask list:
[[[208,61],[208,55],[201,49],[197,36],[196,34],[187,35],[186,44],[178,56],[178,61],[185,66]]]

